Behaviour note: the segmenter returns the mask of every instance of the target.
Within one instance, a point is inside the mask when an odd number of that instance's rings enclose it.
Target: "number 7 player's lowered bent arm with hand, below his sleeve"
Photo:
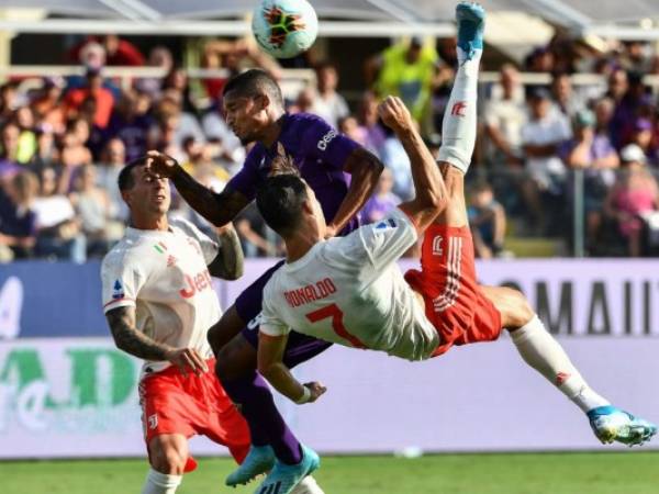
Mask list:
[[[258,371],[281,394],[302,405],[315,402],[326,389],[317,382],[302,384],[283,364],[283,351],[288,335],[269,336],[264,333],[258,338]]]

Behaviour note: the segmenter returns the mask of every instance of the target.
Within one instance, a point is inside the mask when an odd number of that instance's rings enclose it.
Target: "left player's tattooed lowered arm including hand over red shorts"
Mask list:
[[[208,371],[201,356],[193,348],[174,348],[146,336],[135,327],[135,307],[124,306],[105,313],[116,348],[144,360],[168,360],[183,373]]]

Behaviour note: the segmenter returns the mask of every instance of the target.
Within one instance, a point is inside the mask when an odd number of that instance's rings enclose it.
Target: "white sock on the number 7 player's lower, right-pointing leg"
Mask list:
[[[511,332],[511,337],[524,361],[556,385],[583,412],[611,404],[590,389],[562,347],[545,330],[537,315],[525,326]]]

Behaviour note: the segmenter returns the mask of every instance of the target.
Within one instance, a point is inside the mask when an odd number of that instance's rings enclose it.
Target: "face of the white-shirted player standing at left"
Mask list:
[[[135,168],[133,179],[135,184],[124,194],[133,214],[160,216],[169,211],[171,190],[168,179],[158,177],[146,167]]]

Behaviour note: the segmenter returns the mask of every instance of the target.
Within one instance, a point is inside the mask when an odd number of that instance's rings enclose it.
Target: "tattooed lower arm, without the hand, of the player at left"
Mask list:
[[[159,344],[135,327],[135,307],[119,307],[105,314],[116,347],[145,360],[167,360],[172,348]]]

